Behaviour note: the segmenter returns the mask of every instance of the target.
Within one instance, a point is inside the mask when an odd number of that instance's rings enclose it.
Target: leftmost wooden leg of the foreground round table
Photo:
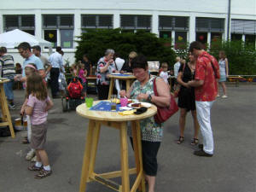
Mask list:
[[[87,131],[87,137],[85,142],[85,150],[84,150],[84,160],[83,160],[83,166],[82,166],[82,172],[81,172],[81,178],[80,178],[80,188],[79,192],[84,192],[86,189],[86,183],[89,177],[89,166],[90,166],[90,154],[91,154],[91,143],[92,143],[92,135],[93,130],[95,128],[95,120],[90,119],[89,121],[89,129]]]

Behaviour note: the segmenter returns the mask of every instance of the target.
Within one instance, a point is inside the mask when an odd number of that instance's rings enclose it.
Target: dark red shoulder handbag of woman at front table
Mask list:
[[[155,79],[154,79],[153,87],[154,87],[154,96],[158,96]],[[174,97],[172,96],[172,94],[171,94],[171,101],[170,101],[169,107],[165,107],[165,108],[159,107],[159,106],[156,106],[156,107],[157,107],[157,113],[154,115],[154,121],[158,124],[165,122],[178,110],[177,103]]]

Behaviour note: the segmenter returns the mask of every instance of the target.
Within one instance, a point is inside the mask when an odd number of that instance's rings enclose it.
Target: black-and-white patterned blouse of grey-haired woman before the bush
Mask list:
[[[108,70],[104,73],[101,73],[100,71],[101,67],[104,67],[106,65],[107,65],[107,61],[105,60],[105,57],[102,57],[97,63],[97,69],[96,69],[97,84],[109,84],[108,74],[111,74],[114,72],[114,70],[116,70],[114,67],[114,64],[111,63],[108,67]]]

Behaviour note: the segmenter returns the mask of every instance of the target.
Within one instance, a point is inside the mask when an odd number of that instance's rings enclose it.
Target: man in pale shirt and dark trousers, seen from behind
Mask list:
[[[50,88],[51,95],[53,98],[57,98],[57,94],[59,91],[59,75],[61,68],[63,67],[62,55],[60,54],[61,47],[56,47],[56,52],[49,55],[49,62],[51,64],[50,69]]]

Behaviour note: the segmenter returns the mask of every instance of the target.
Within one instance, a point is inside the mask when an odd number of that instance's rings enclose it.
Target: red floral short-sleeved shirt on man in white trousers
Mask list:
[[[212,102],[215,100],[218,94],[218,88],[212,65],[216,65],[216,63],[218,65],[218,61],[216,61],[212,55],[209,55],[207,51],[203,51],[202,54],[198,56],[195,65],[195,79],[203,80],[204,84],[195,87],[195,101]]]

